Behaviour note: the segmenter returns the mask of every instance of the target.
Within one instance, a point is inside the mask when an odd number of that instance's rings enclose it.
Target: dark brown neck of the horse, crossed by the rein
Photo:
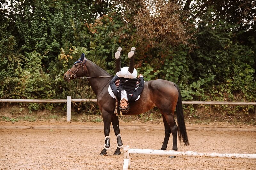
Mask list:
[[[110,76],[110,74],[108,74],[106,71],[104,71],[90,60],[87,60],[85,64],[88,69],[88,77]],[[109,82],[110,79],[111,77],[88,78],[88,81],[92,87],[92,90],[98,96],[100,90],[103,89],[103,87]]]

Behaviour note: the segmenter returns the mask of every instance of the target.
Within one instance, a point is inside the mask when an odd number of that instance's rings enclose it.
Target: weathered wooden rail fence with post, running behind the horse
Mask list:
[[[0,99],[9,103],[67,103],[67,121],[71,120],[71,102],[97,102],[97,99]],[[256,105],[256,102],[215,102],[215,101],[182,101],[182,104],[210,104],[210,105]],[[256,108],[255,108],[256,119]]]

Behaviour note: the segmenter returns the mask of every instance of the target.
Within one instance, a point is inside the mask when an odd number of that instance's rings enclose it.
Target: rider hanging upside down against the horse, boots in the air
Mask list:
[[[132,47],[131,51],[128,53],[128,58],[130,59],[129,67],[121,68],[121,53],[122,48],[118,47],[115,58],[116,58],[116,75],[110,81],[110,88],[117,100],[120,101],[119,109],[122,113],[127,113],[129,111],[129,102],[135,101],[137,97],[141,94],[144,88],[144,77],[139,74],[139,79],[137,77],[137,70],[134,68],[134,53],[135,47]],[[116,88],[115,82],[119,79],[119,86]],[[139,87],[136,88],[136,83],[139,81]]]

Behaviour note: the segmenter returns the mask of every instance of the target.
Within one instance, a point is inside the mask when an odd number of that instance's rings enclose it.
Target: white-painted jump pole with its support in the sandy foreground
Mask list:
[[[130,168],[130,154],[144,154],[156,156],[190,156],[190,157],[206,157],[206,158],[231,158],[231,159],[256,159],[256,154],[245,153],[202,153],[202,152],[179,152],[179,151],[166,151],[166,150],[152,150],[152,149],[132,149],[129,145],[124,147],[124,166],[123,170]]]

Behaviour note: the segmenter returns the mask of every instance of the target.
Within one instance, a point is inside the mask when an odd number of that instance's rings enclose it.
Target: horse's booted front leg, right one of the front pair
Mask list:
[[[120,135],[118,116],[113,114],[111,122],[112,122],[112,125],[113,125],[113,129],[114,129],[114,132],[115,132],[115,135],[116,135],[116,141],[117,141],[117,148],[116,148],[116,151],[114,152],[114,155],[120,155],[121,154],[120,149],[124,146],[123,146],[121,135]]]

